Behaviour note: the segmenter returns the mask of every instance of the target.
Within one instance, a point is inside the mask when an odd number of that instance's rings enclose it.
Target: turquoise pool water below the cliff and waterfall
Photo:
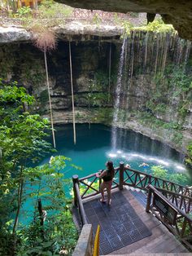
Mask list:
[[[183,157],[180,153],[169,148],[164,143],[151,140],[146,136],[135,133],[131,130],[117,130],[117,148],[111,148],[111,127],[103,125],[87,124],[76,125],[76,145],[73,144],[72,125],[56,127],[56,146],[58,152],[54,155],[71,157],[72,163],[80,166],[82,170],[67,168],[64,170],[65,178],[72,178],[73,174],[84,177],[98,170],[105,168],[105,162],[111,160],[114,166],[119,166],[120,161],[129,164],[133,169],[151,173],[151,166],[163,166],[168,173],[183,173],[188,177],[189,185],[191,182],[190,170],[186,170],[182,164]],[[51,139],[51,138],[50,138]],[[40,165],[50,160],[47,156]],[[143,162],[149,166],[140,166]],[[140,166],[140,167],[139,167]],[[28,187],[28,192],[35,191],[37,188]],[[69,196],[70,189],[66,188]],[[28,199],[24,203],[20,220],[28,223],[33,218],[33,210],[37,198]],[[45,201],[43,204],[45,205]]]

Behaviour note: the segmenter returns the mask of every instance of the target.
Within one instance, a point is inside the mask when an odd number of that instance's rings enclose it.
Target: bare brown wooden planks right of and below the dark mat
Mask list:
[[[189,251],[181,245],[181,242],[177,240],[175,236],[168,231],[162,223],[159,222],[152,214],[147,214],[144,205],[138,201],[137,196],[128,189],[124,189],[119,193],[126,198],[133,209],[145,223],[146,227],[151,231],[152,235],[143,238],[142,240],[136,241],[130,245],[124,246],[123,248],[116,249],[110,253],[110,255],[142,255],[142,254],[160,254],[160,255],[192,255]],[[111,208],[113,204],[111,204]],[[89,216],[88,216],[89,218]],[[99,222],[97,223],[99,224]],[[101,237],[102,238],[102,237]],[[100,243],[102,243],[100,239]],[[108,254],[109,255],[109,254]]]

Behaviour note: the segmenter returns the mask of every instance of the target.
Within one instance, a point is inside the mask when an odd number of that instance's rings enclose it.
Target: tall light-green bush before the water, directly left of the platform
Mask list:
[[[38,184],[37,192],[31,197],[41,197],[43,209],[46,210],[46,221],[40,226],[37,209],[35,222],[21,230],[23,245],[20,254],[26,255],[59,255],[72,254],[77,240],[77,231],[72,222],[70,212],[71,200],[65,196],[64,190],[72,188],[68,179],[64,178],[68,169],[76,168],[68,157],[50,157],[48,164],[32,168],[28,179]],[[42,237],[43,232],[43,237]]]

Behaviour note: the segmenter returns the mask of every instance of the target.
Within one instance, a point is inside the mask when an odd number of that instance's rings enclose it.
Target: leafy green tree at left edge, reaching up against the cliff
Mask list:
[[[46,130],[50,129],[49,121],[29,113],[29,107],[33,103],[33,96],[27,95],[24,87],[18,87],[16,82],[7,85],[0,80],[0,198],[2,205],[7,205],[7,201],[12,203],[8,207],[14,205],[11,209],[15,211],[12,227],[14,248],[24,185],[28,179],[28,162],[39,161],[51,148],[50,143],[44,140]],[[7,209],[7,214],[11,210]],[[3,224],[4,220],[1,219],[1,222]]]

